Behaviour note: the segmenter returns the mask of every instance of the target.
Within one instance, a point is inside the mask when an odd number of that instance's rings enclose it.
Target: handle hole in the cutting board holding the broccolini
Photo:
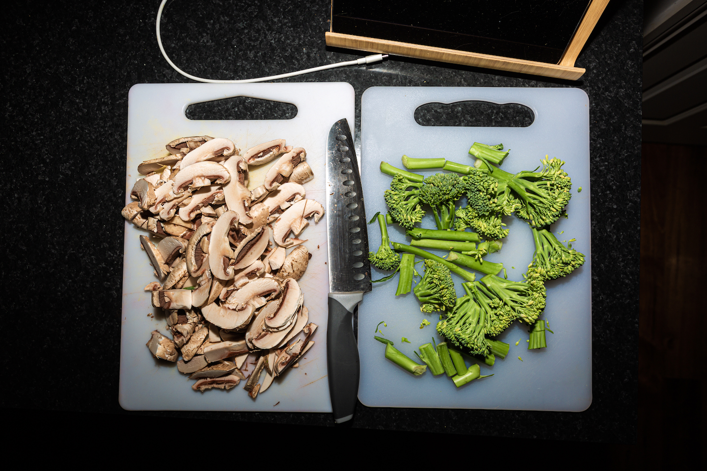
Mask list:
[[[415,121],[420,126],[525,128],[534,120],[532,109],[520,103],[498,105],[474,100],[426,103],[415,109]]]

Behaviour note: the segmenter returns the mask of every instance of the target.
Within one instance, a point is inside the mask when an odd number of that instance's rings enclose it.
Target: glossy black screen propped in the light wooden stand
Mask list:
[[[332,31],[559,62],[590,0],[332,0]]]

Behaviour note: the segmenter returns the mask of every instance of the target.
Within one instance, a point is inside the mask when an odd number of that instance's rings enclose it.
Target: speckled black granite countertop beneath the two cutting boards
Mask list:
[[[57,420],[149,417],[333,427],[314,413],[126,412],[118,403],[129,88],[189,82],[160,54],[158,1],[13,4],[2,44],[6,413]],[[267,4],[267,6],[266,6]],[[189,73],[250,78],[355,59],[329,49],[327,0],[177,0],[165,48]],[[370,408],[352,429],[571,441],[636,441],[641,143],[639,0],[609,3],[579,81],[390,57],[286,81],[372,86],[578,87],[590,100],[593,401],[585,412]],[[357,139],[359,139],[357,137]],[[20,373],[17,373],[21,370]],[[132,422],[131,422],[132,421]],[[479,424],[483,424],[480,426]]]

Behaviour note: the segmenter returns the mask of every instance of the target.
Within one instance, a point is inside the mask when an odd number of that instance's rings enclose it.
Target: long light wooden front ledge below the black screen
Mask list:
[[[577,80],[584,73],[584,68],[547,64],[544,62],[513,59],[510,57],[492,56],[477,52],[457,51],[443,47],[423,46],[410,42],[380,40],[373,37],[344,35],[339,32],[325,32],[327,46],[360,51],[376,52],[378,54],[393,54],[396,56],[414,57],[431,61],[448,62],[464,66],[495,68],[496,70],[528,73],[535,76]]]

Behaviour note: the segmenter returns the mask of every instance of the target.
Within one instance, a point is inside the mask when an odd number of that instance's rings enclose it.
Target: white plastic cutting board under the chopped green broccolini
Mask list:
[[[415,109],[429,102],[452,103],[482,100],[520,103],[532,109],[534,122],[525,128],[421,126],[414,119]],[[416,359],[414,350],[440,342],[435,325],[439,316],[423,314],[411,292],[396,297],[397,276],[388,282],[374,283],[373,292],[359,306],[358,350],[361,354],[361,403],[378,407],[444,407],[506,410],[582,411],[592,402],[592,309],[589,186],[589,101],[577,88],[404,88],[375,87],[362,98],[361,167],[367,218],[387,208],[383,191],[389,177],[380,172],[380,162],[404,168],[400,157],[444,157],[473,165],[468,154],[474,141],[489,145],[503,143],[510,149],[501,168],[520,172],[538,167],[540,159],[559,157],[573,182],[573,196],[567,206],[568,219],[555,222],[551,229],[560,241],[577,239],[572,246],[585,254],[585,265],[566,278],[546,283],[549,321],[547,348],[527,350],[527,324],[518,322],[499,337],[510,343],[506,359],[496,359],[493,367],[480,362],[481,374],[494,374],[456,388],[442,374],[426,372],[412,376],[384,357],[385,346],[373,339],[375,327],[395,342],[395,347]],[[424,171],[432,174],[436,171]],[[581,186],[581,193],[577,188]],[[503,249],[486,259],[503,262],[510,280],[522,280],[532,260],[534,244],[527,224],[515,216],[505,217],[510,235]],[[434,228],[431,215],[422,227]],[[562,234],[559,232],[564,231]],[[389,227],[390,237],[407,244],[404,231]],[[370,250],[380,245],[378,225],[368,226]],[[438,255],[448,252],[436,251]],[[423,270],[418,265],[420,271]],[[515,268],[512,268],[515,267]],[[373,269],[373,279],[387,273]],[[503,275],[503,273],[501,273]],[[457,280],[457,296],[464,294]],[[477,273],[477,280],[483,276]],[[423,318],[430,326],[420,329]],[[380,335],[380,334],[378,334]],[[402,343],[401,338],[411,343]],[[520,340],[518,346],[515,342]],[[522,358],[522,362],[518,359]],[[419,360],[418,360],[419,361]],[[471,364],[467,359],[467,366]]]

